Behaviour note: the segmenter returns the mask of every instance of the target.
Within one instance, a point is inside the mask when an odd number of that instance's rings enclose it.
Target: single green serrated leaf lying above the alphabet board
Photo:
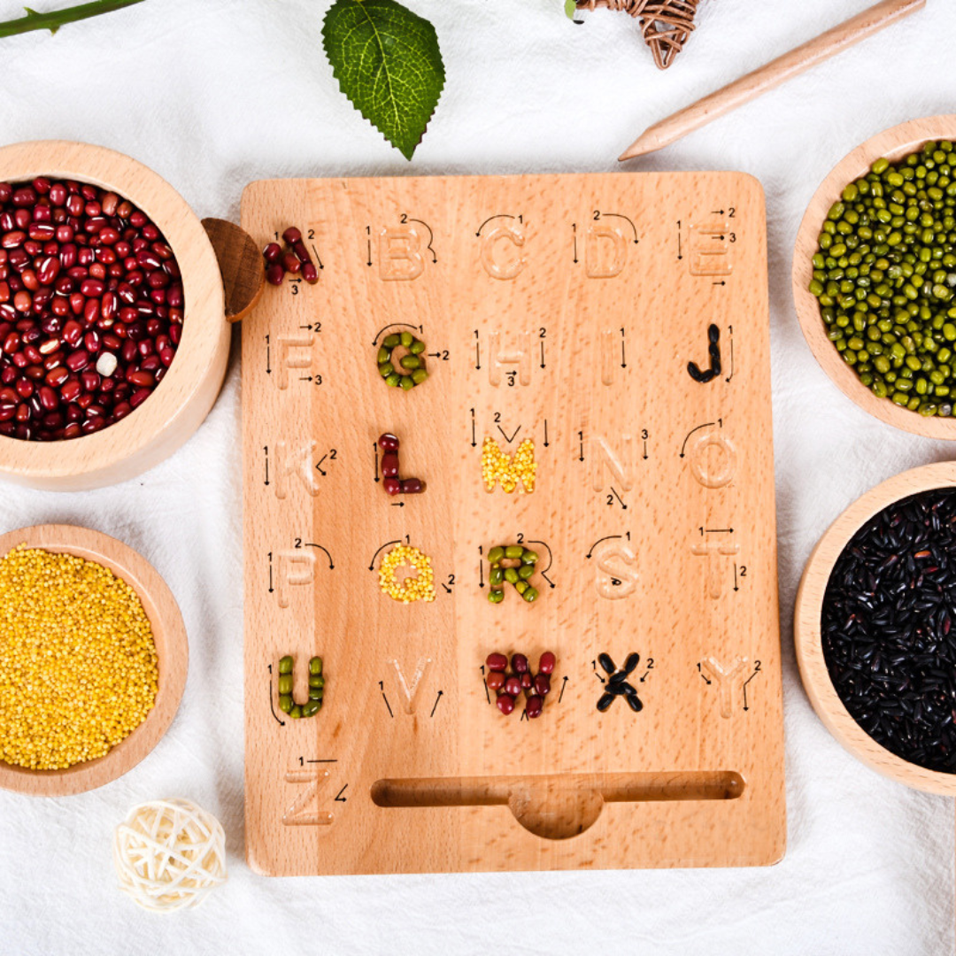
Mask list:
[[[396,0],[336,0],[322,45],[342,93],[410,160],[445,86],[435,28]]]

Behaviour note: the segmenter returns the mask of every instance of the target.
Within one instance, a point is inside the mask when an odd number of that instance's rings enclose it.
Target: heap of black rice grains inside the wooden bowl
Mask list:
[[[956,489],[880,511],[836,559],[820,629],[830,680],[881,746],[956,773]]]

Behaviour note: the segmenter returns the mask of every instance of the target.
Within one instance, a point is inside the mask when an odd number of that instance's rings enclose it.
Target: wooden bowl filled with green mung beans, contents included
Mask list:
[[[894,126],[836,164],[797,233],[793,300],[845,395],[956,440],[956,115]]]

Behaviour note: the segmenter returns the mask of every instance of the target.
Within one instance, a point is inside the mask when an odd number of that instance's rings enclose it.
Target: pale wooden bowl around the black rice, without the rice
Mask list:
[[[830,680],[820,636],[823,596],[836,559],[850,538],[873,515],[911,494],[956,486],[956,462],[942,462],[904,471],[858,498],[824,532],[807,561],[793,610],[796,662],[810,703],[827,729],[847,750],[875,771],[907,787],[956,796],[956,773],[930,771],[911,764],[880,746],[856,720],[836,694]]]

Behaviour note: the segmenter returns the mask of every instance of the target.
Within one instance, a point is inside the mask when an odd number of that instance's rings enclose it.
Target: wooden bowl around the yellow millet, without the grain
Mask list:
[[[84,793],[135,767],[160,741],[179,707],[189,663],[185,624],[176,599],[148,561],[116,538],[73,525],[35,525],[0,535],[0,555],[19,544],[76,554],[109,568],[136,591],[153,631],[160,686],[146,719],[105,756],[61,771],[32,771],[0,761],[0,787],[38,796]]]

